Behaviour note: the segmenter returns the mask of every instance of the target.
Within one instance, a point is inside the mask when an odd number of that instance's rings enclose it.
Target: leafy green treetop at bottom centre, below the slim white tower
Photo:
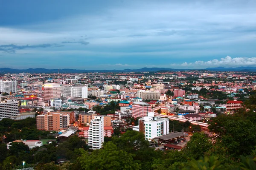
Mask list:
[[[91,154],[80,149],[79,162],[83,170],[140,170],[139,161],[133,161],[133,155],[125,150],[119,150],[112,141],[101,150],[94,150]]]

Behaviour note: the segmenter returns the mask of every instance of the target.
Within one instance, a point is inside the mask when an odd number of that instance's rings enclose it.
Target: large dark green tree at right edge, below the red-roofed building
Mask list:
[[[249,155],[256,145],[256,125],[243,116],[219,115],[210,122],[209,130],[216,133],[216,143],[227,148],[230,156]]]

